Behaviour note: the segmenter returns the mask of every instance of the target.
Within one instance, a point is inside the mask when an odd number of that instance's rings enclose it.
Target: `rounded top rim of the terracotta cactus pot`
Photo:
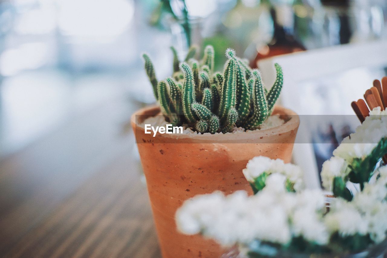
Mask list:
[[[136,130],[139,129],[141,131],[145,131],[144,127],[141,127],[138,123],[136,123],[136,115],[141,115],[143,117],[143,119],[140,119],[139,121],[139,122],[142,122],[148,117],[159,114],[159,112],[160,112],[160,107],[158,105],[152,105],[152,106],[144,107],[137,110],[137,112],[132,114],[132,117],[130,119],[132,127],[135,127]],[[257,131],[229,133],[229,134],[158,134],[158,137],[176,138],[176,139],[194,138],[195,140],[204,140],[204,141],[208,141],[211,138],[212,141],[216,141],[216,140],[229,141],[233,139],[251,139],[262,135],[266,137],[266,136],[284,134],[291,130],[297,129],[298,126],[300,125],[300,117],[293,110],[284,108],[280,105],[276,105],[274,107],[273,114],[281,115],[281,116],[285,115],[289,117],[289,120],[286,120],[284,124],[280,126],[272,127],[269,129],[257,130]]]

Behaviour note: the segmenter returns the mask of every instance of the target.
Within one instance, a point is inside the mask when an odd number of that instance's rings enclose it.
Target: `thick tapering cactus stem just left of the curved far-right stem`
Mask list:
[[[259,71],[254,70],[253,75],[255,76],[255,84],[254,84],[254,113],[250,119],[247,120],[246,128],[249,130],[255,130],[259,127],[262,122],[267,117],[267,102],[265,98],[265,91],[262,84],[262,79],[260,77]]]

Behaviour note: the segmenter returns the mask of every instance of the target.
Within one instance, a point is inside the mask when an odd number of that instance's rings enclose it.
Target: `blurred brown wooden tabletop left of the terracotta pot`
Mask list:
[[[160,257],[129,110],[104,105],[0,161],[1,257]]]

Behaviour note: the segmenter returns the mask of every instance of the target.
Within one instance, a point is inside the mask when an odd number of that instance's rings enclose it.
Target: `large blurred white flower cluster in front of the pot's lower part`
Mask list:
[[[300,235],[315,243],[327,243],[322,191],[288,193],[285,179],[282,174],[269,175],[266,187],[254,196],[244,191],[195,196],[176,213],[178,229],[185,234],[200,232],[224,246],[249,244],[255,239],[288,244]]]

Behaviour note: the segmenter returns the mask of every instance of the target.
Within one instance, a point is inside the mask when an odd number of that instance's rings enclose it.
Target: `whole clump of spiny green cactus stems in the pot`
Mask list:
[[[232,49],[226,50],[228,60],[223,73],[213,72],[212,46],[205,47],[201,61],[193,59],[196,48],[190,48],[182,63],[175,48],[171,50],[173,75],[159,83],[150,58],[146,54],[143,58],[161,112],[172,124],[184,124],[201,133],[225,133],[234,126],[257,129],[271,114],[283,86],[283,72],[278,64],[276,81],[267,91],[260,72],[236,57]]]

